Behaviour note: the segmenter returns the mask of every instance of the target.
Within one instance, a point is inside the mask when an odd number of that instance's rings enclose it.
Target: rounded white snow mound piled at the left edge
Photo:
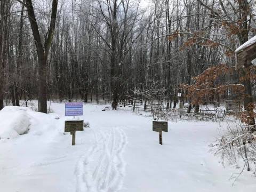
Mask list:
[[[30,121],[25,107],[4,107],[0,111],[0,139],[13,139],[29,131]]]

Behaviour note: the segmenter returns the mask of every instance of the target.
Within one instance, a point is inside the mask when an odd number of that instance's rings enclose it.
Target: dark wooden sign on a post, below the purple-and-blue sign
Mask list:
[[[72,135],[72,145],[76,145],[76,131],[84,131],[84,120],[65,121],[65,132],[70,132]]]

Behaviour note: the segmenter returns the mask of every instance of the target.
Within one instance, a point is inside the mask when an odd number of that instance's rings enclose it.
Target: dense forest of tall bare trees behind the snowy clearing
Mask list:
[[[129,97],[147,102],[153,87],[175,108],[181,84],[234,67],[236,48],[256,35],[254,0],[0,2],[0,109],[38,99],[46,113],[47,100],[74,98],[116,109]]]

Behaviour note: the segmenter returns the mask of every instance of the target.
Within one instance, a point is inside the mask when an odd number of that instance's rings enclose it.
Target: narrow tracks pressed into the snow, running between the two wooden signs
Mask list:
[[[125,163],[122,153],[126,135],[121,128],[94,131],[95,142],[75,170],[76,192],[115,192],[123,184]]]

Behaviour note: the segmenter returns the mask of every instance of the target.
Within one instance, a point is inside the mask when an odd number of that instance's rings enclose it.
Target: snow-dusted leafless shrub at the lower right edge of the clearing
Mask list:
[[[216,152],[221,154],[222,165],[229,163],[239,167],[238,164],[242,162],[243,169],[241,173],[245,168],[248,171],[255,170],[256,133],[248,130],[250,130],[248,125],[240,120],[227,123],[227,133],[220,138]]]

